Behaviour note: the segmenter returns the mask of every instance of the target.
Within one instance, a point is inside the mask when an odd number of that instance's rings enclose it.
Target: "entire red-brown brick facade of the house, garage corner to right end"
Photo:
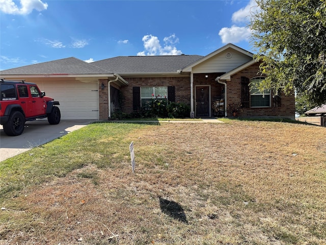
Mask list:
[[[231,81],[227,81],[227,115],[233,116],[236,111],[238,117],[282,117],[294,119],[295,106],[294,94],[286,96],[281,94],[281,104],[275,106],[275,97],[271,97],[270,107],[261,108],[241,108],[241,77],[252,79],[257,77],[259,64],[255,63],[250,67],[239,71],[231,76]],[[208,78],[206,78],[208,75]],[[194,74],[194,110],[196,111],[196,86],[209,86],[211,103],[215,100],[224,98],[224,85],[215,81],[216,77],[223,75],[222,73]],[[174,86],[175,102],[183,102],[191,105],[190,76],[180,77],[144,77],[144,78],[124,78],[128,82],[128,86],[117,86],[112,83],[111,86],[117,88],[122,93],[122,111],[125,113],[133,112],[133,87],[158,87],[158,86]],[[105,88],[101,89],[101,84]],[[107,96],[107,80],[99,80],[99,119],[108,118],[108,96]],[[117,108],[117,105],[116,105]],[[211,115],[214,115],[211,110]]]

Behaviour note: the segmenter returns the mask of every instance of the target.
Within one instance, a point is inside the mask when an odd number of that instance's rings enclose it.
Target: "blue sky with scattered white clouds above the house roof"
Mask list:
[[[75,57],[208,55],[227,43],[252,51],[254,0],[0,0],[0,70]]]

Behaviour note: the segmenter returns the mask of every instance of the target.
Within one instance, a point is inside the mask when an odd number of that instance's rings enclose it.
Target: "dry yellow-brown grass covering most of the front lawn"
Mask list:
[[[0,244],[326,244],[325,138],[280,122],[135,129],[134,174],[126,156],[24,189],[3,204]]]

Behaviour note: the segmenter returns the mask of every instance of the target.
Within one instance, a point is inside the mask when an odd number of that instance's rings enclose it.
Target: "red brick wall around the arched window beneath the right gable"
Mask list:
[[[228,116],[232,116],[234,109],[237,109],[237,116],[239,117],[282,117],[294,119],[294,94],[286,96],[284,93],[281,93],[281,107],[273,107],[274,98],[273,94],[271,94],[271,107],[241,108],[241,77],[249,79],[258,77],[258,71],[259,64],[256,63],[231,76],[231,81],[226,82]]]

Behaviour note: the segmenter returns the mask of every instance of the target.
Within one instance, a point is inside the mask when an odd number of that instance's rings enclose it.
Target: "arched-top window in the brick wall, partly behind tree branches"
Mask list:
[[[270,107],[270,89],[265,89],[263,92],[255,88],[264,77],[251,79],[251,84],[254,88],[250,90],[250,106],[251,107]]]

